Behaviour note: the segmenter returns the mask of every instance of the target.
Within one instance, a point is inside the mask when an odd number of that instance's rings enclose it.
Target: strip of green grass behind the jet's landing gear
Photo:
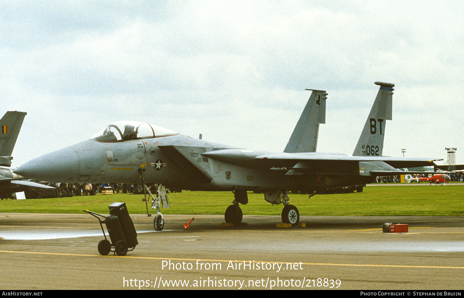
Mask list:
[[[464,185],[369,186],[361,193],[316,195],[289,194],[290,203],[302,216],[464,216]],[[232,192],[183,191],[168,194],[171,209],[163,214],[224,214]],[[143,195],[2,200],[0,212],[82,213],[83,209],[106,214],[108,205],[125,202],[129,213],[146,214]],[[249,203],[240,205],[244,215],[280,215],[282,205],[264,201],[263,194],[248,192]],[[149,212],[151,203],[148,203]],[[154,213],[154,212],[153,212]]]

